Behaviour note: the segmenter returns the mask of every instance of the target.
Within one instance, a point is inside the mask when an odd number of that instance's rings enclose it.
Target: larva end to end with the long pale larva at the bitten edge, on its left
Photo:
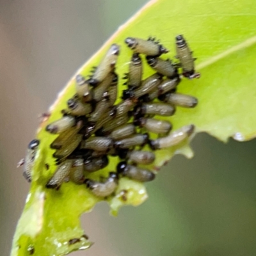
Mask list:
[[[129,138],[115,141],[116,148],[131,148],[135,146],[143,146],[148,142],[148,134],[135,134]]]

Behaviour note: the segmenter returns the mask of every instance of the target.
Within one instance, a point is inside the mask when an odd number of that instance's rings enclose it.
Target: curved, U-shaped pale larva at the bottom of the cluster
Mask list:
[[[116,173],[110,172],[109,177],[104,182],[86,179],[84,183],[93,193],[93,195],[106,197],[114,193],[118,185],[118,178]]]

